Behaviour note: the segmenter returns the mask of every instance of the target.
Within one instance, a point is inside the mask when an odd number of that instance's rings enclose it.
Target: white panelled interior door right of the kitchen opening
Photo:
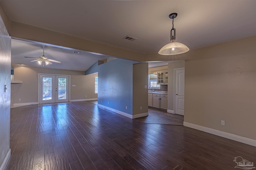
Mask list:
[[[184,115],[185,69],[175,69],[175,114]]]

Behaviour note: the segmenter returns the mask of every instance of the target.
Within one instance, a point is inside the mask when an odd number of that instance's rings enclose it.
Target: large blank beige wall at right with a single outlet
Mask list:
[[[256,140],[256,36],[191,54],[184,121]]]

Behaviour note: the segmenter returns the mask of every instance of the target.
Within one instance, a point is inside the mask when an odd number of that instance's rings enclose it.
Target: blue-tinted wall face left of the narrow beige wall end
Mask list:
[[[98,66],[98,104],[132,115],[135,63],[139,62],[115,59]]]

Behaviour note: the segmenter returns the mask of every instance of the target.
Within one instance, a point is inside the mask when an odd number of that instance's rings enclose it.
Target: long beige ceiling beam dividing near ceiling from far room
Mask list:
[[[47,43],[133,61],[144,61],[144,55],[142,53],[98,43],[95,41],[89,41],[15,21],[10,21],[9,34],[11,37],[16,39]]]

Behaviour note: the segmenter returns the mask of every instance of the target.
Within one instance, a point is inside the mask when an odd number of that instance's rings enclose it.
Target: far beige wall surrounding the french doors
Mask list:
[[[97,95],[94,94],[94,84],[92,84],[92,81],[95,81],[94,74],[84,75],[82,71],[15,66],[14,80],[23,81],[23,83],[13,84],[14,104],[38,102],[38,73],[70,75],[71,100],[97,98]],[[76,85],[76,87],[72,87],[72,84]],[[92,85],[92,87],[90,88],[88,85]],[[19,99],[21,100],[19,101]]]

